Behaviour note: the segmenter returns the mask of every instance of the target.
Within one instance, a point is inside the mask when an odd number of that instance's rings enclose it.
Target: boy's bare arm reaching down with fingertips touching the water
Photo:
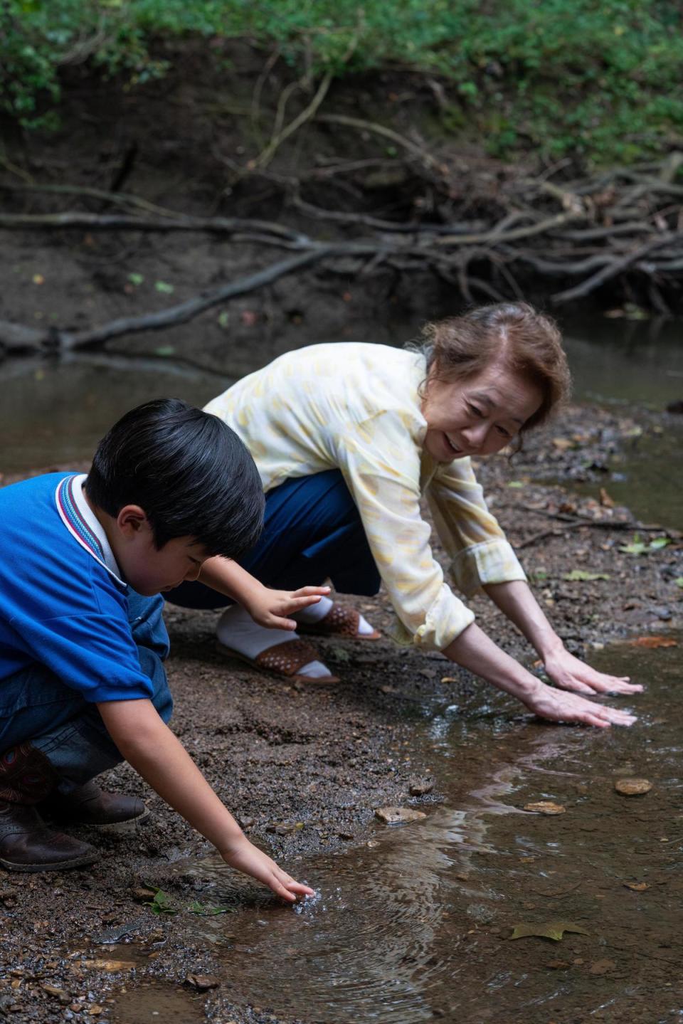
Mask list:
[[[126,761],[185,821],[213,843],[230,867],[258,879],[289,902],[312,894],[312,889],[295,882],[249,842],[151,700],[108,700],[98,703],[97,709]]]

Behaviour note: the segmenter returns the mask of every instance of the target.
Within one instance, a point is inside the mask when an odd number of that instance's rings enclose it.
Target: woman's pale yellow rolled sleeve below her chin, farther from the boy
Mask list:
[[[459,590],[471,597],[484,584],[526,580],[512,545],[486,508],[469,459],[437,469],[427,499]]]

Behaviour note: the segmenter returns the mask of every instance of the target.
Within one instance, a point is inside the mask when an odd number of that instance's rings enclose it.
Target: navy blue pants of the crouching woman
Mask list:
[[[360,516],[338,469],[286,480],[265,496],[261,539],[240,559],[266,587],[298,590],[331,580],[343,594],[376,594],[380,574]],[[183,608],[222,608],[228,597],[201,583],[166,594]]]

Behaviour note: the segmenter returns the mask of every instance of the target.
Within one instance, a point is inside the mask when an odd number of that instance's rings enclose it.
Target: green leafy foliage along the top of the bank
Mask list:
[[[493,154],[629,162],[681,144],[682,28],[674,0],[0,0],[0,102],[43,124],[65,66],[132,88],[166,70],[155,39],[248,36],[312,75],[441,75],[443,130]]]

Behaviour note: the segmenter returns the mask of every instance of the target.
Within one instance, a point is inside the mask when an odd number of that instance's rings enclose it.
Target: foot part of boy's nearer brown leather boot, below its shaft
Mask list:
[[[35,807],[0,803],[0,864],[10,871],[61,871],[97,860],[88,843],[52,831]]]

